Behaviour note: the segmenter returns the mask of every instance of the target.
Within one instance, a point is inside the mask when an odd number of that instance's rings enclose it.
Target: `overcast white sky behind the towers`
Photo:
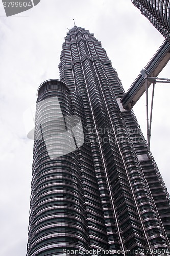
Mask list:
[[[0,256],[26,255],[33,141],[22,114],[43,81],[59,78],[65,27],[74,26],[73,18],[102,42],[126,91],[164,41],[131,0],[41,0],[11,17],[0,2]],[[169,65],[159,77],[170,78]],[[156,84],[151,151],[170,190],[169,93],[170,84]],[[134,112],[145,134],[144,96]]]

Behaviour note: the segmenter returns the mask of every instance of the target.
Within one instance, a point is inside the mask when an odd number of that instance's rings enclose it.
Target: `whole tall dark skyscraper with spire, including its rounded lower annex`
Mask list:
[[[27,255],[169,254],[169,194],[101,42],[74,26],[59,69],[37,93]]]

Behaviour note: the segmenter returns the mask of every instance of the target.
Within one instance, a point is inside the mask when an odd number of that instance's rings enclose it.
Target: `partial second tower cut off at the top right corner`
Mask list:
[[[132,3],[170,41],[170,1],[132,0]]]

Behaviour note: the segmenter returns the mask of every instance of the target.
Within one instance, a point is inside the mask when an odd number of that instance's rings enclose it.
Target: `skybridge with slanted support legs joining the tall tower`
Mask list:
[[[146,93],[146,113],[147,113],[147,142],[148,150],[150,151],[150,140],[151,140],[151,122],[152,122],[152,110],[153,110],[153,98],[155,83],[170,83],[169,78],[157,77],[162,69],[166,66],[170,60],[170,42],[165,40],[160,46],[158,51],[148,62],[147,66],[140,71],[140,74],[136,80],[132,83],[132,86],[128,89],[125,95],[120,100],[124,109],[131,110],[136,102],[140,99],[143,93]],[[152,99],[151,99],[151,111],[149,121],[148,111],[148,87],[153,83]]]

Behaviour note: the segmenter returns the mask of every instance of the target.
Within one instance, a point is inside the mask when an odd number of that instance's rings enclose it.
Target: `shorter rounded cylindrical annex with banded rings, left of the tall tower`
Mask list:
[[[69,88],[60,80],[47,80],[37,98],[27,256],[87,251],[89,236]]]

